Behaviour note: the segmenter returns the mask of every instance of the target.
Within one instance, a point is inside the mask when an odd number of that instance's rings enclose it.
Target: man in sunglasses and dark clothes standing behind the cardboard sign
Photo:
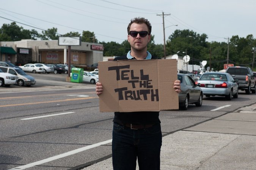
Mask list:
[[[124,59],[157,59],[147,51],[151,40],[151,24],[147,19],[134,18],[127,27],[131,51],[116,57]],[[102,94],[102,83],[96,83],[96,94]],[[172,88],[166,84],[166,88]],[[180,92],[180,81],[173,87]],[[112,159],[113,170],[135,170],[136,160],[140,170],[160,170],[162,132],[159,111],[115,112],[113,120]]]

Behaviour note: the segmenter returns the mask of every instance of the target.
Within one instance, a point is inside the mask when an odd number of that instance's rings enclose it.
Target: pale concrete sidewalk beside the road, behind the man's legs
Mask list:
[[[112,158],[83,170],[113,170]],[[163,137],[161,170],[256,170],[256,104]]]

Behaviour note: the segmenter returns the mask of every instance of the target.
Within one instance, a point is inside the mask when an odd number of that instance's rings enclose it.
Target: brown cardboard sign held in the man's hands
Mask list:
[[[179,108],[178,94],[173,89],[177,80],[176,59],[101,61],[98,68],[103,86],[103,93],[99,95],[100,112]],[[144,85],[140,87],[139,82]],[[150,94],[146,94],[148,92]]]

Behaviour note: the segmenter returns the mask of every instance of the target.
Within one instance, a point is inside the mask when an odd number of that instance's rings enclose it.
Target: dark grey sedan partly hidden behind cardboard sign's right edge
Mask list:
[[[186,74],[178,73],[178,80],[181,81],[181,92],[179,93],[179,108],[188,109],[188,104],[196,104],[200,107],[203,103],[203,92],[200,87],[196,86],[195,81]]]

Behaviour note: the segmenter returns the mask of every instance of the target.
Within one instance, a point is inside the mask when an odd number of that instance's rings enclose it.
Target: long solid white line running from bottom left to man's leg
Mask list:
[[[23,169],[26,169],[26,168],[34,167],[36,165],[41,165],[41,164],[44,164],[44,163],[47,163],[47,162],[50,162],[50,161],[53,161],[53,160],[56,160],[56,159],[64,158],[66,156],[69,156],[69,155],[72,155],[72,154],[75,154],[75,153],[79,153],[79,152],[82,152],[82,151],[85,151],[85,150],[88,150],[88,149],[91,149],[91,148],[95,148],[95,147],[98,147],[100,145],[105,145],[105,144],[110,143],[110,142],[112,142],[112,139],[106,140],[106,141],[103,141],[103,142],[99,142],[99,143],[95,143],[93,145],[89,145],[89,146],[82,147],[82,148],[79,148],[79,149],[75,149],[75,150],[72,150],[72,151],[69,151],[69,152],[66,152],[66,153],[63,153],[63,154],[59,154],[59,155],[56,155],[56,156],[53,156],[53,157],[50,157],[50,158],[43,159],[41,161],[36,161],[36,162],[30,163],[30,164],[22,165],[20,167],[12,168],[12,169],[9,169],[9,170],[23,170]]]

